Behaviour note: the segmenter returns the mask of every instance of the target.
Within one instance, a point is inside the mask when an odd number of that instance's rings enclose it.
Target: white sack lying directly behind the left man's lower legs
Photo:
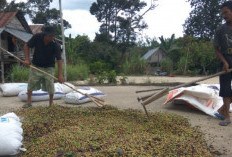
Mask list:
[[[55,91],[53,100],[61,99],[64,96],[65,96],[65,93],[63,93],[62,91]],[[27,91],[21,91],[18,97],[21,101],[27,101]],[[45,92],[42,90],[37,90],[37,91],[32,92],[31,101],[34,102],[34,101],[47,101],[47,100],[49,100],[48,92]]]

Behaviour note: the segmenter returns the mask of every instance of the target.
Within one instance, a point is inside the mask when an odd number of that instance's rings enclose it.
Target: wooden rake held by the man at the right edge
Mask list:
[[[229,72],[231,72],[232,69],[229,69]],[[210,76],[206,76],[204,78],[201,78],[201,79],[197,79],[197,80],[194,80],[194,81],[191,81],[191,82],[187,82],[187,83],[183,83],[183,84],[180,84],[178,86],[175,86],[175,87],[172,87],[172,88],[163,88],[160,92],[158,93],[152,93],[152,94],[149,94],[149,95],[145,95],[143,97],[138,97],[138,101],[142,101],[141,102],[141,105],[143,106],[144,108],[144,111],[147,115],[147,117],[149,118],[149,115],[148,115],[148,112],[147,112],[147,109],[146,109],[146,105],[150,104],[151,102],[165,96],[166,94],[169,93],[169,91],[171,90],[174,90],[174,89],[177,89],[177,88],[180,88],[180,87],[186,87],[186,86],[189,86],[191,84],[194,84],[194,83],[197,83],[197,82],[200,82],[200,81],[204,81],[204,80],[207,80],[207,79],[210,79],[210,78],[213,78],[213,77],[216,77],[216,76],[219,76],[219,75],[223,75],[223,74],[226,74],[227,72],[225,71],[221,71],[221,72],[218,72],[216,74],[213,74],[213,75],[210,75]]]

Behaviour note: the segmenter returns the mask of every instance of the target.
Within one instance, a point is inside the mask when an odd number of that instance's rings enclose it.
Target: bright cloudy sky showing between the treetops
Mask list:
[[[25,1],[25,0],[17,0]],[[65,36],[69,34],[72,37],[77,35],[88,35],[91,40],[94,39],[95,33],[98,32],[100,23],[96,17],[89,12],[90,6],[96,0],[61,0],[63,18],[71,25],[71,29],[65,30]],[[151,0],[143,0],[149,6]],[[141,37],[170,38],[172,34],[175,37],[183,36],[183,24],[189,17],[191,7],[186,0],[157,0],[157,7],[149,11],[144,20],[148,28],[141,32]],[[59,0],[53,0],[51,7],[59,9]]]

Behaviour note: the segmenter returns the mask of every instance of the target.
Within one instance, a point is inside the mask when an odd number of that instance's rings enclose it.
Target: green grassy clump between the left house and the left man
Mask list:
[[[11,82],[27,82],[29,78],[29,68],[15,64],[7,76]]]

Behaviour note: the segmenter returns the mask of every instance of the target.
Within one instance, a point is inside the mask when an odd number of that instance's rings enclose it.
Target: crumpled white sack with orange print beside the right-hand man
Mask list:
[[[219,84],[201,84],[178,88],[169,92],[165,104],[181,100],[215,117],[214,113],[223,105],[222,97],[219,96],[219,89]],[[231,107],[230,111],[232,111]]]

